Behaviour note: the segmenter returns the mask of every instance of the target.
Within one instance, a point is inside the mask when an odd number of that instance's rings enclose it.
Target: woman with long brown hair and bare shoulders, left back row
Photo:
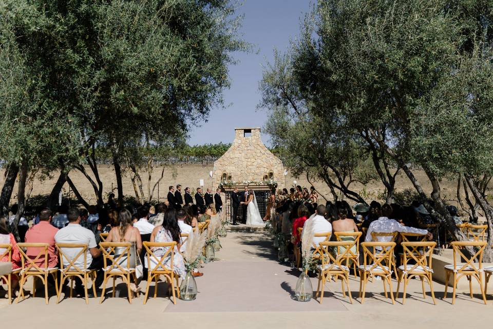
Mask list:
[[[132,215],[130,211],[127,209],[123,209],[118,214],[118,222],[119,225],[117,227],[113,227],[106,238],[106,242],[129,242],[130,246],[130,268],[136,269],[137,265],[140,265],[139,255],[142,251],[142,240],[140,237],[140,231],[136,227],[132,226]],[[117,259],[122,252],[124,252],[125,247],[117,247],[115,248],[115,259]],[[125,266],[127,265],[128,260],[125,259]],[[140,292],[139,282],[142,278],[142,273],[137,276],[137,282],[130,284],[130,289],[134,294],[138,294]]]

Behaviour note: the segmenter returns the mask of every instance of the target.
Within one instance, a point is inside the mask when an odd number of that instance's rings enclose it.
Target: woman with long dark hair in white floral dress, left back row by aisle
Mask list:
[[[181,234],[180,234],[180,227],[178,226],[178,221],[176,218],[176,211],[173,209],[173,211],[168,210],[166,214],[164,215],[164,221],[163,224],[160,226],[157,226],[154,228],[153,233],[150,235],[150,241],[151,242],[173,242],[175,241],[177,243],[177,246],[175,247],[175,254],[173,256],[173,269],[176,275],[178,275],[181,279],[185,278],[186,275],[186,269],[185,269],[185,263],[183,261],[183,256],[181,253],[178,251],[180,248],[180,243],[181,243]],[[157,247],[154,248],[153,252],[156,255],[156,257],[162,257],[167,252],[167,248],[169,247]],[[151,262],[153,260],[151,259]],[[168,255],[162,262],[165,267],[171,268],[171,256]],[[156,266],[156,264],[147,264],[148,268],[152,268],[152,266]],[[202,276],[203,274],[200,272],[194,273],[194,276],[199,277]]]

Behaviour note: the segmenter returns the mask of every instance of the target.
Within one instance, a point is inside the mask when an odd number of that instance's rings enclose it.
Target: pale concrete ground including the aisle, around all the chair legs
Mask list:
[[[488,305],[475,295],[459,294],[456,304],[451,296],[445,300],[443,285],[434,283],[437,305],[428,296],[423,299],[421,282],[412,280],[406,304],[402,292],[395,305],[383,295],[381,281],[369,283],[365,303],[357,298],[359,280],[351,278],[353,304],[343,298],[340,283],[329,283],[323,304],[312,300],[300,303],[291,299],[299,272],[276,262],[272,243],[265,232],[229,232],[221,241],[223,249],[217,261],[206,264],[205,275],[197,279],[199,296],[195,301],[169,302],[165,284],[160,283],[158,298],[142,304],[143,297],[132,305],[124,298],[107,298],[103,304],[91,299],[89,305],[81,298],[65,299],[56,304],[56,297],[45,305],[42,294],[17,305],[0,299],[2,327],[87,328],[98,327],[163,327],[193,326],[197,328],[318,328],[358,326],[365,328],[464,328],[488,327],[493,321],[490,288]],[[313,280],[316,289],[316,281]],[[145,281],[141,282],[144,287]],[[120,285],[123,290],[123,286]],[[151,288],[152,289],[152,288]],[[393,282],[396,289],[396,282]],[[402,288],[401,288],[402,291]],[[479,293],[477,291],[476,293]]]

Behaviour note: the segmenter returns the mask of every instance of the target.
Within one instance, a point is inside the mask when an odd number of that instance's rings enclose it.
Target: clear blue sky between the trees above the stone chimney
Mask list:
[[[189,144],[230,143],[235,127],[263,126],[267,113],[256,111],[262,66],[272,62],[274,48],[285,52],[290,40],[298,38],[300,19],[313,3],[314,0],[243,0],[237,10],[238,14],[244,14],[240,33],[258,53],[234,53],[238,63],[229,68],[231,88],[224,90],[226,106],[212,109],[208,122],[201,122],[201,126],[189,131]],[[262,140],[269,143],[263,132]]]

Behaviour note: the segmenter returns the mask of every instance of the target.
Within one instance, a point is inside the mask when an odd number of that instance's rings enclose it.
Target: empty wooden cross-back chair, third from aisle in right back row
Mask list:
[[[435,294],[433,292],[433,270],[431,268],[431,261],[433,258],[433,248],[437,246],[436,242],[409,242],[405,241],[401,243],[403,248],[403,262],[397,270],[399,270],[399,279],[397,280],[396,298],[399,296],[399,287],[401,281],[404,280],[404,291],[402,297],[402,304],[406,303],[406,287],[409,280],[413,277],[419,277],[421,279],[421,287],[423,289],[423,298],[426,299],[425,293],[425,279],[428,281],[431,290],[431,298],[433,304],[435,302]],[[408,264],[409,261],[414,264]]]

